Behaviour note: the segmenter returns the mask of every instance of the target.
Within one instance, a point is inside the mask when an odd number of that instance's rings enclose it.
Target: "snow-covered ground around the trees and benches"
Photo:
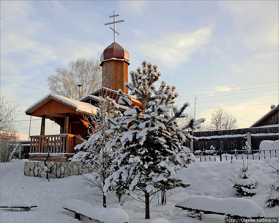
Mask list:
[[[255,171],[252,176],[259,178],[260,185],[256,187],[258,193],[247,199],[255,201],[265,212],[266,217],[278,217],[279,208],[266,208],[265,203],[270,190],[269,186],[275,181],[277,175],[272,173],[270,164],[278,167],[278,158],[266,160],[250,160]],[[51,179],[49,182],[39,177],[25,177],[24,162],[19,160],[12,163],[0,164],[0,195],[1,205],[28,203],[37,205],[29,212],[20,212],[19,209],[10,208],[0,210],[0,222],[79,222],[72,212],[63,209],[66,199],[79,199],[91,203],[92,206],[100,205],[94,199],[98,199],[95,193],[97,189],[84,185],[82,176]],[[249,162],[250,162],[249,161]],[[185,183],[191,183],[187,189],[177,188],[166,205],[158,204],[157,196],[150,205],[151,219],[144,219],[144,203],[140,203],[129,196],[125,196],[125,202],[120,205],[115,194],[110,195],[108,208],[123,208],[129,215],[130,222],[150,222],[156,218],[167,219],[170,222],[198,222],[187,218],[186,212],[181,208],[175,208],[175,204],[186,199],[189,195],[206,195],[215,198],[230,198],[235,189],[229,181],[231,173],[239,173],[243,166],[242,160],[230,160],[222,162],[201,162],[190,164],[188,168],[178,172],[179,177]],[[251,170],[251,169],[250,169]],[[84,222],[91,222],[85,219]],[[220,215],[202,215],[202,222],[224,222]]]

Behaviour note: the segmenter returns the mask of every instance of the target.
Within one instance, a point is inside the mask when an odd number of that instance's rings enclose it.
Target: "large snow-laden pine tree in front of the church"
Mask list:
[[[205,121],[192,119],[179,127],[178,118],[187,117],[184,112],[189,103],[177,108],[174,105],[174,99],[179,97],[176,87],[165,81],[156,90],[154,83],[161,75],[157,65],[143,61],[141,68],[130,72],[131,82],[125,83],[130,95],[135,96],[143,108],[133,106],[126,94],[118,90],[118,104],[130,109],[122,117],[106,120],[111,125],[108,133],[115,133],[115,139],[108,142],[107,147],[113,148],[117,143],[121,143],[121,147],[115,150],[113,160],[119,169],[105,180],[104,191],[109,193],[121,185],[143,196],[145,219],[150,218],[150,196],[158,188],[189,186],[176,177],[176,170],[195,161],[195,157],[184,153],[181,145],[186,139],[194,139],[186,129],[197,129]]]

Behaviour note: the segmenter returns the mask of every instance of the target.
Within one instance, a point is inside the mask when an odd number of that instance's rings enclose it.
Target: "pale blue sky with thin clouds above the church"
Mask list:
[[[113,42],[159,66],[161,81],[177,86],[179,104],[210,122],[224,107],[248,128],[278,104],[278,1],[4,1],[0,2],[1,94],[20,104],[17,126],[28,139],[26,108],[49,94],[47,77],[80,57],[100,60]],[[113,27],[113,26],[112,26]],[[159,83],[157,83],[159,86]],[[214,97],[213,97],[214,96]],[[245,105],[245,106],[243,106]],[[32,117],[30,135],[40,134]],[[59,126],[46,122],[46,134]]]

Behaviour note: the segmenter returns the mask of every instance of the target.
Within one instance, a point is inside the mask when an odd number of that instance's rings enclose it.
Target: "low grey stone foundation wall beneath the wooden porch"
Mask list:
[[[73,175],[81,175],[88,171],[82,162],[47,162],[47,167],[50,168],[53,165],[50,178],[62,178]],[[46,177],[44,171],[44,162],[25,162],[24,175],[28,177]]]

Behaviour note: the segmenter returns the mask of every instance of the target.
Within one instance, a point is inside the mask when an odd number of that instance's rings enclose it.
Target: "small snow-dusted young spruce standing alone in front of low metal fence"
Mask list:
[[[232,177],[229,180],[234,184],[233,187],[237,189],[235,194],[238,196],[253,196],[258,193],[255,187],[259,180],[257,177],[251,176],[248,160],[247,166],[245,166],[243,160],[243,167],[240,168],[240,173],[238,175],[232,173]]]

